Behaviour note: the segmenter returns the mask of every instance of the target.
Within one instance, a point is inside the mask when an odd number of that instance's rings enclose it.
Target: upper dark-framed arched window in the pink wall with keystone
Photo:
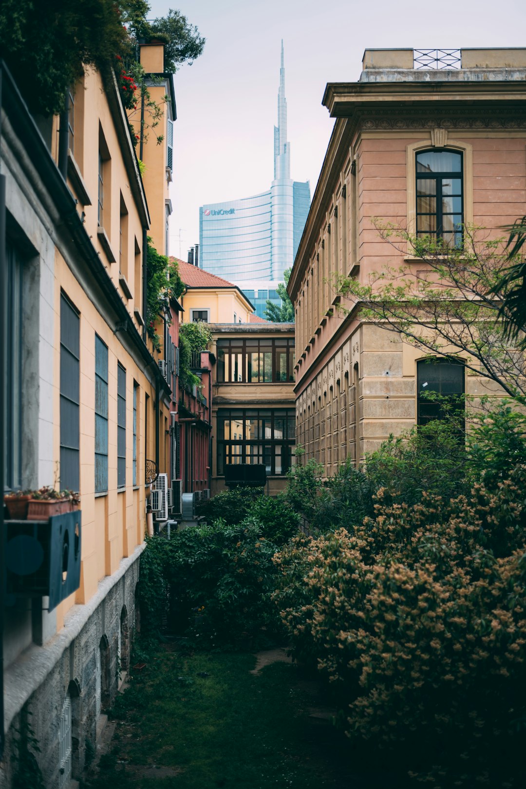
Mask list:
[[[463,159],[452,150],[416,154],[416,236],[442,239],[450,249],[462,246],[464,222]]]

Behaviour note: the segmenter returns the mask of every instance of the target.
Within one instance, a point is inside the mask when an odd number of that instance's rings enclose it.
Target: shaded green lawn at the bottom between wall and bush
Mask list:
[[[349,776],[348,741],[309,717],[319,700],[297,668],[274,663],[252,675],[255,664],[246,653],[159,649],[118,697],[94,789],[362,786]]]

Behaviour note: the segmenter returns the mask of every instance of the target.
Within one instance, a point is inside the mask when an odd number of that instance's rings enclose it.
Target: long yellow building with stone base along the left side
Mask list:
[[[80,778],[128,665],[147,468],[162,472],[170,458],[170,387],[144,327],[144,256],[147,234],[166,251],[171,163],[150,139],[141,178],[117,80],[105,87],[88,69],[69,98],[69,112],[37,128],[2,67],[4,487],[80,492],[74,531],[64,522],[72,537],[45,537],[47,586],[15,583],[8,562],[2,787],[29,713],[46,787]]]

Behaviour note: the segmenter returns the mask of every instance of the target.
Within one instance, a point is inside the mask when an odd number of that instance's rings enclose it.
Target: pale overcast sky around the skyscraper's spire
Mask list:
[[[179,9],[207,39],[174,77],[177,122],[170,255],[199,243],[199,207],[270,188],[281,41],[290,172],[314,193],[334,120],[327,82],[358,80],[364,50],[526,47],[524,0],[150,0]]]

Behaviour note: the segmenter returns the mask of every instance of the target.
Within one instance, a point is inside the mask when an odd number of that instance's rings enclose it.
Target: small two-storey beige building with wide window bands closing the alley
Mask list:
[[[294,462],[293,323],[213,323],[211,495],[226,488],[225,469],[263,464],[267,491],[286,485]]]

